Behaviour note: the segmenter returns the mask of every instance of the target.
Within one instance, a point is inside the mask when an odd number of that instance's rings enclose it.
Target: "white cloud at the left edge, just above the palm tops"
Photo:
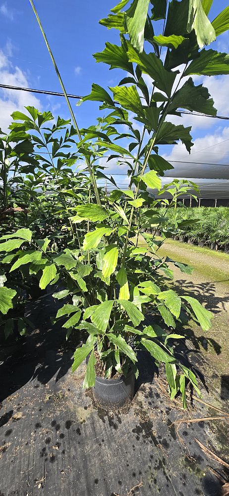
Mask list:
[[[26,73],[19,67],[13,66],[7,57],[0,51],[0,82],[11,86],[29,86]],[[12,119],[12,112],[19,110],[25,112],[24,107],[34,106],[41,110],[41,103],[31,93],[19,90],[0,89],[0,128],[6,131]]]

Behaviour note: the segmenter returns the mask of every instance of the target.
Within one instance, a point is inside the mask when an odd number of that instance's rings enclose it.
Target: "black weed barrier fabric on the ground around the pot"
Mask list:
[[[158,375],[143,352],[130,408],[97,409],[82,390],[85,364],[70,372],[83,336],[66,346],[64,330],[50,324],[56,310],[51,296],[38,301],[28,309],[37,329],[1,349],[0,496],[126,496],[131,487],[141,496],[221,495],[212,469],[228,474],[195,438],[227,460],[229,424],[176,421],[222,414],[195,400],[188,412],[171,402],[163,370]],[[225,377],[221,390],[221,377],[200,355],[179,353],[205,375],[204,401],[227,412]]]

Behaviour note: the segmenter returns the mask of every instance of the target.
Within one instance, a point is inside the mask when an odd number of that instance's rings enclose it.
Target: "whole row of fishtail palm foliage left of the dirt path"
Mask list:
[[[173,229],[169,210],[195,186],[174,180],[162,187],[160,177],[172,165],[160,153],[162,145],[179,141],[191,150],[191,127],[170,122],[180,109],[216,115],[208,89],[195,85],[192,75],[229,73],[227,54],[203,48],[227,23],[224,12],[210,23],[211,0],[128,3],[120,1],[101,20],[118,30],[120,42],[106,43],[96,62],[122,69],[124,77],[107,89],[93,84],[83,98],[81,103],[99,102],[97,122],[79,129],[55,63],[71,122],[27,107],[14,112],[10,132],[0,134],[0,325],[6,339],[30,332],[27,301],[49,288],[59,301],[56,320],[66,338],[84,333],[72,364],[74,372],[87,358],[83,387],[95,386],[98,370],[104,380],[137,377],[138,353],[145,351],[157,367],[164,364],[171,398],[180,393],[185,407],[187,382],[200,391],[194,371],[177,358],[182,335],[175,329],[192,319],[208,330],[212,315],[167,287],[172,260],[157,250]],[[156,36],[160,19],[164,29]],[[117,171],[128,166],[126,189],[106,170],[111,159]],[[113,186],[109,195],[101,179]],[[149,188],[158,190],[159,199]],[[169,205],[160,199],[165,188]],[[193,219],[179,228],[189,224]],[[139,246],[140,231],[155,226],[163,239],[144,232],[145,245]]]

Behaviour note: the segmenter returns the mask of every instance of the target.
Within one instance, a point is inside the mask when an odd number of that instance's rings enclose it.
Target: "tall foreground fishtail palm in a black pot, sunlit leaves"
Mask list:
[[[32,0],[30,3],[35,11]],[[172,343],[182,337],[174,333],[177,322],[180,324],[187,317],[193,318],[207,330],[211,326],[211,313],[197,300],[179,296],[167,288],[163,276],[172,278],[172,270],[167,261],[157,255],[163,241],[171,236],[168,209],[177,204],[181,194],[195,186],[174,180],[166,186],[172,196],[166,207],[165,200],[155,199],[148,188],[158,190],[160,198],[165,189],[161,187],[159,176],[172,169],[171,164],[159,155],[161,145],[181,140],[189,152],[192,146],[191,128],[172,124],[170,116],[179,116],[182,108],[216,115],[207,88],[201,84],[195,86],[190,77],[192,74],[229,72],[226,54],[203,49],[227,29],[224,13],[212,24],[208,20],[211,3],[134,0],[127,8],[128,0],[122,0],[107,19],[100,21],[108,28],[120,31],[120,45],[107,43],[105,50],[94,57],[111,68],[123,69],[125,77],[109,91],[93,84],[90,95],[83,98],[83,101],[101,102],[103,117],[99,117],[98,124],[79,130],[72,114],[74,127],[70,128],[70,136],[67,131],[67,139],[76,146],[73,162],[76,158],[84,158],[85,163],[85,169],[74,176],[75,184],[72,178],[67,182],[69,175],[63,178],[64,161],[69,161],[69,166],[71,156],[58,162],[58,148],[62,146],[62,136],[66,136],[63,131],[66,123],[62,123],[59,140],[53,137],[53,128],[49,128],[44,134],[45,142],[42,142],[41,128],[47,127],[51,115],[42,115],[31,108],[27,109],[29,117],[19,113],[13,115],[20,123],[13,123],[11,132],[22,132],[23,129],[30,135],[36,150],[46,146],[50,153],[52,160],[47,159],[45,165],[44,157],[37,153],[37,167],[39,169],[43,164],[46,175],[53,175],[52,182],[62,204],[61,213],[64,212],[67,219],[69,236],[65,247],[61,247],[55,233],[52,236],[48,233],[45,238],[37,236],[36,231],[28,227],[19,229],[6,235],[7,241],[2,240],[0,253],[10,251],[11,254],[3,254],[1,263],[10,273],[21,265],[28,266],[36,273],[41,289],[48,284],[60,284],[60,291],[54,297],[64,299],[57,319],[64,319],[67,337],[73,330],[88,333],[85,344],[74,353],[72,371],[89,357],[83,387],[96,385],[95,397],[105,405],[120,406],[127,397],[125,394],[117,400],[112,394],[101,393],[96,374],[104,378],[105,387],[106,381],[114,381],[112,377],[117,374],[126,383],[127,394],[131,397],[133,373],[138,375],[138,349],[147,350],[156,365],[165,364],[171,398],[180,391],[183,406],[186,406],[186,380],[191,381],[200,394],[194,373],[177,361]],[[123,8],[127,9],[122,11]],[[154,22],[158,19],[164,19],[164,29],[161,35],[155,36]],[[149,46],[153,50],[151,53],[148,53]],[[51,50],[50,53],[53,57]],[[144,80],[145,74],[152,79],[150,88]],[[135,121],[142,124],[141,133],[133,124]],[[126,147],[127,139],[129,145]],[[126,190],[120,189],[114,178],[105,174],[106,166],[101,166],[99,161],[104,155],[109,156],[108,162],[116,158],[117,168],[118,163],[128,166]],[[109,195],[99,186],[101,179],[114,185]],[[162,206],[163,215],[159,208]],[[143,243],[140,231],[145,228],[151,229],[153,236],[142,233]],[[154,237],[159,228],[162,241]],[[185,264],[174,263],[181,271],[190,271]],[[7,286],[7,270],[6,281],[0,288],[1,295],[6,298],[2,313],[12,307],[15,297],[15,291]],[[145,323],[146,312],[151,316],[150,325]]]

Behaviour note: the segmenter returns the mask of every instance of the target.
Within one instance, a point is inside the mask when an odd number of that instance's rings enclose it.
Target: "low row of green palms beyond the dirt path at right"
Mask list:
[[[162,215],[164,212],[160,210]],[[170,208],[166,226],[172,227],[171,237],[179,241],[229,251],[229,207]]]

